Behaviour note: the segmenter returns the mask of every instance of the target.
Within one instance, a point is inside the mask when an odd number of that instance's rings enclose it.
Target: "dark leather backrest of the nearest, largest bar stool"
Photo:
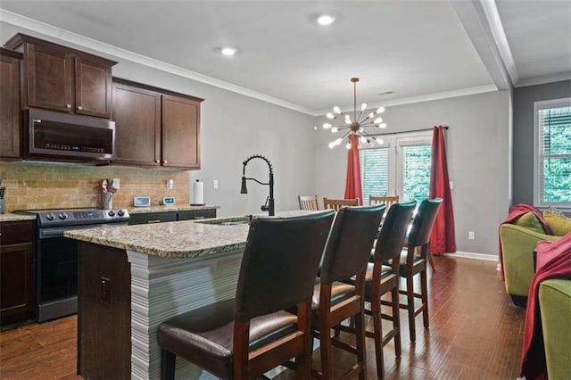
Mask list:
[[[313,293],[334,211],[253,219],[236,289],[235,318],[290,308]]]

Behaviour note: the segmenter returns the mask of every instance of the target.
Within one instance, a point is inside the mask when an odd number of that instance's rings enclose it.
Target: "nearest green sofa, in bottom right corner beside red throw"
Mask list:
[[[571,376],[571,279],[551,279],[539,286],[547,376]]]

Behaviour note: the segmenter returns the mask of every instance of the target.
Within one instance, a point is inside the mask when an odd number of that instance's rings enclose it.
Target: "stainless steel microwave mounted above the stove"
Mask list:
[[[112,160],[115,122],[89,116],[29,109],[26,155],[30,158]]]

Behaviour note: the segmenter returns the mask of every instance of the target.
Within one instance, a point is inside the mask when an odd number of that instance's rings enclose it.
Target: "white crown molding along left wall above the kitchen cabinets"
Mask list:
[[[128,50],[121,49],[120,47],[109,45],[101,41],[97,41],[93,38],[81,36],[77,33],[70,32],[69,30],[57,28],[54,27],[53,25],[46,24],[45,22],[30,19],[28,17],[22,16],[21,14],[9,12],[1,8],[0,8],[0,21],[12,24],[20,28],[29,29],[33,32],[40,33],[47,37],[57,38],[58,40],[70,44],[79,45],[81,47],[87,47],[88,49],[94,50],[95,52],[110,55],[113,58],[120,58],[122,60],[136,62],[138,64],[142,64],[153,69],[170,72],[171,74],[177,75],[179,77],[192,79],[197,82],[210,85],[212,87],[219,87],[234,92],[236,94],[245,95],[257,100],[261,100],[262,102],[275,104],[280,107],[294,110],[296,112],[302,112],[309,114],[311,116],[315,116],[314,110],[311,110],[310,108],[304,107],[302,105],[289,103],[286,102],[285,100],[278,99],[277,97],[273,97],[270,95],[265,95],[257,91],[251,90],[249,88],[236,86],[224,80],[211,78],[199,72],[187,70],[180,66],[173,65],[167,62],[155,60],[153,58],[147,57],[142,54],[133,53]]]

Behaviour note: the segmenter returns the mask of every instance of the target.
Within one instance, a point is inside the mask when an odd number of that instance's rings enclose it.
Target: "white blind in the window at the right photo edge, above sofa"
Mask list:
[[[539,110],[540,200],[571,203],[571,107]]]

